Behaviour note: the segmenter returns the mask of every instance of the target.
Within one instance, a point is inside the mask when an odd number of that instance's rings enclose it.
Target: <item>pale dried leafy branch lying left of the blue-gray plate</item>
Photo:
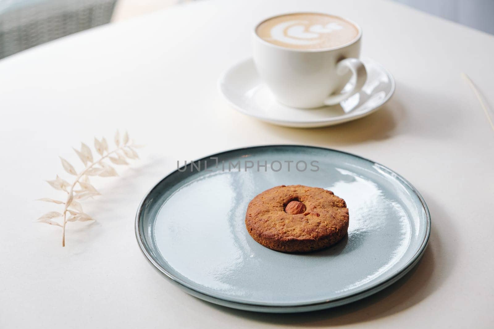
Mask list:
[[[108,142],[104,137],[101,140],[98,140],[96,137],[94,138],[94,149],[100,156],[97,160],[93,160],[91,149],[84,143],[81,143],[81,151],[74,149],[82,164],[85,166],[79,173],[67,160],[60,158],[65,171],[76,176],[72,184],[61,179],[58,175],[54,180],[47,181],[54,189],[64,191],[67,194],[67,199],[65,202],[50,198],[39,199],[39,201],[64,205],[64,209],[62,212],[47,212],[38,218],[37,222],[60,226],[62,228],[62,247],[65,247],[65,227],[67,222],[85,222],[94,220],[91,216],[83,212],[82,206],[79,203],[79,201],[100,195],[94,186],[90,184],[88,176],[118,176],[117,170],[106,163],[105,160],[109,160],[113,164],[128,164],[128,159],[134,160],[139,158],[135,151],[135,148],[138,148],[138,145],[133,144],[129,140],[127,132],[124,133],[121,142],[120,133],[117,130],[114,141],[116,148],[109,151]],[[78,190],[76,190],[76,186],[79,186]],[[67,213],[69,213],[69,217],[67,217]],[[54,220],[54,218],[62,218],[61,223]]]

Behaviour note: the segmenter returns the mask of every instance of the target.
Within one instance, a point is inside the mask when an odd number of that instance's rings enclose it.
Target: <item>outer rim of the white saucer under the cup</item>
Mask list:
[[[267,116],[252,114],[251,112],[248,112],[248,111],[244,110],[237,103],[233,102],[232,99],[229,96],[227,96],[227,94],[224,92],[223,85],[225,84],[224,82],[225,82],[226,76],[228,75],[228,73],[233,68],[238,67],[238,66],[240,66],[240,65],[242,65],[244,63],[247,63],[247,62],[252,62],[252,65],[254,65],[253,64],[253,58],[251,56],[250,57],[247,57],[247,58],[244,58],[242,60],[237,61],[235,64],[232,64],[230,67],[228,67],[228,69],[226,69],[225,71],[223,71],[221,73],[220,77],[218,78],[217,88],[218,88],[220,94],[223,96],[223,98],[235,110],[237,110],[238,112],[240,112],[240,113],[242,113],[242,114],[244,114],[244,115],[246,115],[248,117],[255,118],[255,119],[261,120],[263,122],[272,123],[272,124],[281,125],[281,126],[298,127],[298,128],[303,128],[303,127],[306,127],[306,128],[309,128],[309,127],[324,127],[324,126],[336,125],[336,124],[340,124],[340,123],[346,123],[346,122],[349,122],[349,121],[353,121],[353,120],[361,119],[363,117],[367,117],[368,115],[370,115],[370,114],[374,113],[375,111],[379,110],[384,104],[386,104],[391,99],[391,96],[393,96],[393,94],[395,93],[395,89],[396,89],[396,82],[395,82],[395,79],[394,79],[393,75],[384,66],[382,66],[381,64],[379,64],[378,62],[376,62],[375,60],[373,60],[373,59],[371,59],[369,57],[362,57],[361,59],[364,62],[365,61],[372,62],[373,65],[378,66],[380,69],[382,69],[386,73],[386,75],[388,76],[388,78],[390,80],[391,89],[390,89],[389,93],[386,95],[386,97],[380,102],[379,105],[377,105],[374,108],[372,108],[371,110],[369,110],[367,112],[364,112],[364,113],[361,113],[359,115],[354,115],[354,116],[340,116],[340,117],[333,117],[333,118],[327,118],[327,119],[313,119],[313,120],[305,120],[305,121],[293,121],[293,120],[276,119],[276,118],[270,118],[270,117],[267,117]],[[310,111],[310,109],[308,111]]]

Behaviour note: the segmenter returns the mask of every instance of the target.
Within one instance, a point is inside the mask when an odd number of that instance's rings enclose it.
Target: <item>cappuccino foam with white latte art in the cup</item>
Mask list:
[[[286,14],[261,22],[255,33],[264,41],[293,49],[330,49],[356,40],[359,29],[343,18],[318,13]]]

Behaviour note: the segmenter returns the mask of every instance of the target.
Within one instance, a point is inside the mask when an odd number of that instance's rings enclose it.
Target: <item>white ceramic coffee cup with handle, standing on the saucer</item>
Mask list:
[[[317,13],[284,14],[267,20],[297,14]],[[265,41],[257,34],[257,27],[267,20],[254,28],[253,59],[257,72],[280,103],[296,108],[338,104],[364,86],[367,72],[359,59],[362,29],[347,19],[332,17],[352,24],[358,30],[357,36],[328,49],[294,49]],[[342,91],[351,79],[353,85]]]

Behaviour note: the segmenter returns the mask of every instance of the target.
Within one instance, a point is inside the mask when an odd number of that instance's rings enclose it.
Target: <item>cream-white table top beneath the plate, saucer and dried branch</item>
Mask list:
[[[358,9],[356,9],[358,8]],[[329,128],[260,123],[233,111],[220,73],[250,54],[250,29],[288,11],[325,11],[364,30],[363,55],[394,75],[396,93],[371,116]],[[494,131],[460,77],[494,104],[494,37],[389,1],[198,1],[83,32],[0,61],[0,327],[487,328],[494,288]],[[43,182],[67,178],[62,156],[128,129],[146,144],[120,178],[95,181],[94,224],[33,223],[56,205]],[[397,284],[322,312],[230,310],[179,290],[134,237],[146,191],[176,167],[225,149],[271,143],[343,150],[396,170],[432,216],[423,260]],[[79,167],[80,168],[80,167]]]

